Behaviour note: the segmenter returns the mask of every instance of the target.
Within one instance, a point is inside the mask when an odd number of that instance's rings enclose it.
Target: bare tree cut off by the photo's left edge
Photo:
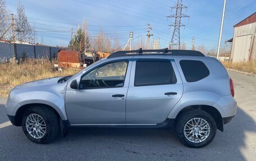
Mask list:
[[[6,4],[4,0],[0,0],[0,36],[6,31],[6,29],[11,25],[11,17],[8,16],[8,11],[6,8]],[[10,40],[10,29],[8,32],[3,36],[3,39]]]

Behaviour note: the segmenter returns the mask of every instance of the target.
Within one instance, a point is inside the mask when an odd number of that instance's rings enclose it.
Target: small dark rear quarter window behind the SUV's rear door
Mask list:
[[[180,66],[187,82],[202,80],[210,74],[207,66],[201,61],[182,60]]]

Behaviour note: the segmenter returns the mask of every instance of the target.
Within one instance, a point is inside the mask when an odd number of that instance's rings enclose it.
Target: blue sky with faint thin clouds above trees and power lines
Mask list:
[[[94,38],[100,28],[109,38],[118,35],[121,44],[134,31],[134,38],[141,35],[146,39],[147,24],[152,26],[151,38],[159,38],[161,47],[168,47],[173,27],[168,27],[174,19],[166,16],[171,12],[175,0],[21,0],[26,8],[31,25],[35,25],[36,35],[48,45],[67,45],[71,37],[71,28],[86,20],[90,36]],[[195,36],[195,45],[204,44],[207,48],[217,48],[220,33],[223,1],[185,0],[188,7],[183,13],[190,18],[182,19],[181,42],[190,48]],[[10,13],[16,13],[16,0],[6,0]],[[222,42],[232,38],[233,26],[255,12],[255,0],[227,0]],[[63,23],[59,23],[63,22]],[[51,32],[49,32],[51,31]],[[54,31],[54,32],[52,32]],[[58,31],[58,32],[56,32]],[[134,40],[140,40],[140,37]]]

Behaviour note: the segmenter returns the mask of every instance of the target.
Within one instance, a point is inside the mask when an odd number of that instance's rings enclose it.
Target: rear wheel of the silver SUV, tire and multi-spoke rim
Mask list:
[[[195,121],[198,122],[199,126],[197,126]],[[203,125],[200,126],[200,123]],[[195,126],[191,126],[191,124]],[[188,126],[185,127],[185,125]],[[191,148],[202,148],[211,143],[216,135],[216,131],[217,126],[214,118],[211,114],[200,109],[191,109],[181,113],[175,123],[177,137],[179,137],[184,145]]]

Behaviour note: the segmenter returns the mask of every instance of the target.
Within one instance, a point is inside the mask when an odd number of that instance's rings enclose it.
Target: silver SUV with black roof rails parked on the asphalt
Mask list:
[[[194,50],[111,54],[74,76],[16,86],[7,115],[33,142],[68,127],[175,128],[190,147],[209,144],[236,114],[232,79],[213,57]]]

